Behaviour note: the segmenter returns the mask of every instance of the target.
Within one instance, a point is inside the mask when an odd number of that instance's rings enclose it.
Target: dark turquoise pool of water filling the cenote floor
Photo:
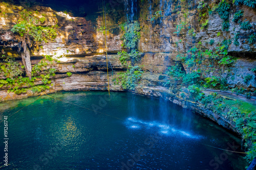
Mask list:
[[[38,100],[35,97],[0,104],[1,139],[4,116],[8,116],[9,135],[9,165],[5,166],[2,160],[1,169],[246,166],[243,154],[207,146],[241,152],[241,139],[170,102],[124,92],[111,92],[111,99],[108,92],[97,91],[50,96],[61,101],[44,95]],[[5,145],[0,143],[3,158]]]

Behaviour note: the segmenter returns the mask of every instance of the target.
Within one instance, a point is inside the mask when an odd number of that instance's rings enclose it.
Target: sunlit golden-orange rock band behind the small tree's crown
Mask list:
[[[23,7],[0,3],[0,45],[2,50],[10,52],[11,55],[19,56],[17,52],[17,36],[11,29],[20,18],[20,11]],[[98,16],[98,26],[95,28],[91,21],[83,17],[71,17],[63,12],[53,11],[49,7],[35,6],[29,9],[36,17],[45,17],[46,20],[41,26],[58,25],[55,41],[41,43],[38,47],[31,48],[31,57],[42,55],[80,55],[105,52],[104,34],[99,30],[103,26],[102,16]],[[121,50],[120,35],[108,32],[108,51],[116,52]],[[11,48],[11,49],[10,49]],[[3,55],[3,51],[0,53]]]

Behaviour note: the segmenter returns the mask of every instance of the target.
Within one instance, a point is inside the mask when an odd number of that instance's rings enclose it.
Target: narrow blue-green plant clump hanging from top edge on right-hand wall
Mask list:
[[[225,0],[221,1],[217,7],[217,12],[221,17],[221,19],[223,20],[222,22],[223,31],[228,31],[228,28],[229,28],[229,10],[230,10],[230,5]]]

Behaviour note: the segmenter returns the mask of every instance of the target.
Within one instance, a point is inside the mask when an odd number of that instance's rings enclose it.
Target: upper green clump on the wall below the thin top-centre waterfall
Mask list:
[[[137,46],[137,42],[140,39],[140,24],[138,21],[133,21],[131,23],[124,23],[121,26],[124,31],[123,46],[126,48],[134,49]]]

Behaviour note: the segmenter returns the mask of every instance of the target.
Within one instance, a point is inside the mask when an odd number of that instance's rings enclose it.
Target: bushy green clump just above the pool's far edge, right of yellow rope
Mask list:
[[[137,83],[142,76],[143,71],[141,70],[140,66],[132,66],[129,65],[126,72],[122,72],[119,78],[117,78],[115,83],[119,83],[121,81],[121,85],[123,89],[134,90],[135,87],[138,85]]]

